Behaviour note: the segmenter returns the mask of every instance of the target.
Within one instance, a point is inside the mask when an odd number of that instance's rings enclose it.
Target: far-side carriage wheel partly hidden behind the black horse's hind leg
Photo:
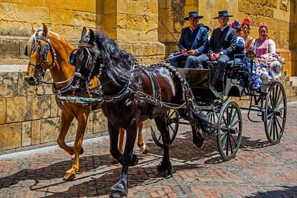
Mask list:
[[[169,109],[165,114],[165,121],[166,121],[166,127],[167,130],[170,133],[170,145],[173,143],[175,136],[178,131],[178,125],[179,125],[179,114],[177,111]],[[161,148],[164,148],[162,137],[159,132],[159,130],[154,130],[152,127],[150,127],[151,130],[151,137],[153,142]]]

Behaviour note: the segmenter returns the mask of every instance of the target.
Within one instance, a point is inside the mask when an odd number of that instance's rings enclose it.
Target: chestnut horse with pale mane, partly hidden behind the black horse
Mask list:
[[[25,54],[29,56],[29,65],[27,68],[25,80],[29,85],[39,85],[41,78],[44,77],[45,71],[49,69],[53,81],[56,83],[55,88],[62,93],[67,93],[70,88],[69,82],[73,77],[75,67],[68,63],[69,53],[74,49],[65,40],[63,40],[58,34],[48,31],[48,27],[43,25],[43,30],[35,30],[32,26],[33,36],[28,41],[25,49]],[[94,78],[91,83],[93,87],[98,86],[98,79]],[[68,85],[67,85],[68,84]],[[84,94],[86,98],[94,98],[89,94]],[[82,106],[76,103],[64,102],[60,104],[55,96],[56,103],[62,110],[60,132],[57,138],[57,143],[60,148],[63,148],[70,155],[74,155],[74,162],[72,167],[66,171],[63,180],[71,181],[74,179],[76,172],[79,169],[79,154],[84,152],[82,148],[82,142],[84,133],[87,126],[88,116],[91,112],[91,106]],[[97,109],[101,108],[98,105]],[[94,109],[95,110],[95,109]],[[65,143],[65,137],[69,130],[70,124],[74,117],[78,121],[78,127],[76,131],[74,147],[67,146]],[[142,127],[143,123],[139,125],[138,146],[143,153],[148,152],[148,147],[143,143],[142,139]],[[124,129],[120,130],[119,140],[119,152],[123,153],[123,140]],[[111,159],[112,163],[117,162],[116,159]]]

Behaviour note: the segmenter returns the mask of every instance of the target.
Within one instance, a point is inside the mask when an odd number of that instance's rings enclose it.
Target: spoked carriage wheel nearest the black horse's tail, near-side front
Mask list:
[[[235,157],[242,137],[242,115],[238,104],[226,102],[218,118],[217,146],[223,160]]]

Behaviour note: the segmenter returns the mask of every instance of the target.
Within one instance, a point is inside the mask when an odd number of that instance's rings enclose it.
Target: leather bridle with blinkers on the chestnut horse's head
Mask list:
[[[42,44],[41,49],[40,49],[40,55],[43,56],[43,60],[42,60],[42,62],[40,64],[34,63],[32,61],[29,61],[29,63],[28,63],[29,65],[33,65],[34,67],[36,67],[38,69],[37,75],[36,75],[37,76],[37,79],[38,79],[38,84],[40,84],[40,80],[42,78],[44,78],[45,73],[46,73],[46,71],[42,67],[45,64],[45,62],[48,61],[47,56],[48,56],[49,50],[50,50],[51,57],[52,57],[52,64],[49,67],[50,69],[55,66],[56,59],[57,59],[56,58],[56,54],[55,54],[55,52],[52,49],[52,45],[51,45],[51,42],[49,40],[49,36],[47,36],[47,38],[46,38],[44,36],[39,35],[39,32],[40,31],[42,31],[42,29],[38,29],[36,31],[36,34],[35,34],[35,37],[34,37],[35,45],[34,45],[33,52],[37,49],[37,43],[39,41]],[[44,45],[44,43],[42,42],[42,40],[45,41],[46,43],[48,43],[48,45]],[[25,48],[24,54],[26,56],[28,56],[27,46]]]

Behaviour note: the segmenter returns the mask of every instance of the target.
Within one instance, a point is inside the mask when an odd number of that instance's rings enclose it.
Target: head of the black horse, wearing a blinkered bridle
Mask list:
[[[90,29],[89,35],[84,27],[78,49],[74,49],[69,55],[69,63],[75,66],[75,72],[71,91],[82,96],[86,89],[91,86],[90,80],[96,75],[101,74],[99,53],[95,43],[95,33]]]

